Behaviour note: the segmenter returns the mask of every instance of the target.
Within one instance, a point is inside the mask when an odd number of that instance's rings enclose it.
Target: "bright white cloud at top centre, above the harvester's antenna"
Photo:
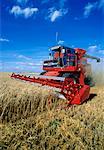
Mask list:
[[[48,18],[50,18],[51,22],[54,22],[56,19],[66,15],[67,13],[68,13],[68,9],[56,10],[55,8],[50,8]]]

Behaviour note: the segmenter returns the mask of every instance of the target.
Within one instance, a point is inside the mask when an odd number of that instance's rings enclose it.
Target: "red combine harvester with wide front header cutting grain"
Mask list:
[[[87,63],[87,58],[97,62],[100,62],[100,59],[87,55],[83,49],[60,45],[50,49],[49,57],[49,60],[43,62],[44,72],[40,75],[13,73],[11,77],[58,88],[69,105],[86,101],[90,95],[87,81],[91,73],[91,65]]]

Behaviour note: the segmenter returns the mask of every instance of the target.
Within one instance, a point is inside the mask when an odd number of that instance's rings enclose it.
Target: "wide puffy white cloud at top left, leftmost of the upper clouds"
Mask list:
[[[25,18],[29,18],[38,12],[38,8],[24,8],[22,9],[20,6],[13,6],[10,13],[14,14],[14,16],[23,16]]]

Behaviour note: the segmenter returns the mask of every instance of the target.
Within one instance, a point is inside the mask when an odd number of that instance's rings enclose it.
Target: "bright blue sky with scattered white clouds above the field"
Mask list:
[[[1,71],[40,71],[58,42],[104,59],[104,0],[0,0]]]

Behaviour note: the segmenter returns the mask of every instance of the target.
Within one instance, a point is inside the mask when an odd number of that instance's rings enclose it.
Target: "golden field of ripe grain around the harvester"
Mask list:
[[[103,150],[104,85],[86,103],[64,105],[52,90],[0,73],[0,149]]]

